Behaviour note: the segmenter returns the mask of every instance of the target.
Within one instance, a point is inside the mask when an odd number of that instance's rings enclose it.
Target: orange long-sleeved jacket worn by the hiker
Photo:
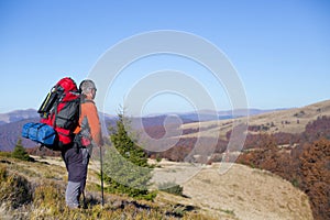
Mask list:
[[[101,124],[99,120],[98,110],[94,103],[94,101],[89,100],[86,102],[82,102],[80,106],[80,117],[79,117],[79,125],[74,131],[75,134],[79,133],[80,125],[82,123],[82,119],[87,118],[88,125],[90,128],[90,134],[95,143],[100,146],[103,144],[102,141],[102,133],[101,133]]]

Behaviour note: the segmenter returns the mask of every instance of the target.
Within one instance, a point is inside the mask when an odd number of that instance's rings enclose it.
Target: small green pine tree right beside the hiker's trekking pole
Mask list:
[[[147,190],[152,169],[146,153],[130,138],[129,125],[123,113],[118,114],[117,128],[110,129],[110,147],[105,155],[105,180],[110,193],[124,193],[134,198],[153,199],[155,194]]]

